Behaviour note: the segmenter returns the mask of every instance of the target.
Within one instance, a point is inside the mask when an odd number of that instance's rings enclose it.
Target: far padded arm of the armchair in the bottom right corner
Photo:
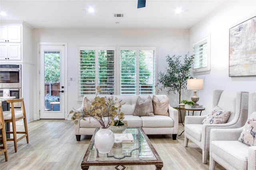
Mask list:
[[[237,141],[242,133],[243,127],[237,129],[211,129],[211,141]]]

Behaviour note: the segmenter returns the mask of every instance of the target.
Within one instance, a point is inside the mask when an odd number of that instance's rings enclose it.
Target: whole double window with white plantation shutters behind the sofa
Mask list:
[[[100,94],[155,94],[156,47],[78,47],[79,97]]]

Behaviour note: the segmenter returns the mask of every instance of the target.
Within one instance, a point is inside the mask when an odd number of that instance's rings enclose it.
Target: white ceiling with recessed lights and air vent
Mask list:
[[[0,20],[25,21],[34,28],[188,29],[225,2],[146,0],[146,7],[137,9],[137,0],[0,0],[0,11],[8,14]],[[176,8],[183,12],[176,14]],[[114,18],[116,13],[124,17]]]

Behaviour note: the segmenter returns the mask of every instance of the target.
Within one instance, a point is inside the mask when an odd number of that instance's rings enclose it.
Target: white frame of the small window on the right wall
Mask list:
[[[205,41],[207,43],[207,61],[206,61],[206,66],[205,67],[199,67],[199,68],[194,68],[194,64],[193,64],[193,74],[194,75],[201,75],[201,74],[209,74],[210,73],[210,66],[211,66],[211,50],[210,50],[210,34],[207,35],[206,37],[200,39],[199,41],[193,43],[193,55],[195,55],[195,47],[198,47],[200,45],[204,45]],[[196,60],[197,56],[194,56],[194,60]]]

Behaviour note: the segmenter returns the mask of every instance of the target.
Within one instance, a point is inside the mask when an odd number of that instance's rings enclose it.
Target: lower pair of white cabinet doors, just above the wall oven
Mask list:
[[[21,60],[21,43],[0,43],[0,60]]]

